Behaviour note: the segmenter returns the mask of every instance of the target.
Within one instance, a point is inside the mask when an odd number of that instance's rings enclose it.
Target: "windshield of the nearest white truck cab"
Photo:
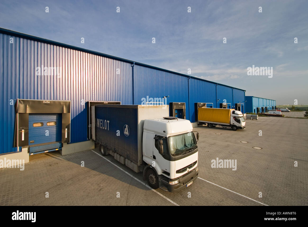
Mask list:
[[[193,132],[168,137],[170,152],[172,155],[188,151],[197,147],[197,142]]]

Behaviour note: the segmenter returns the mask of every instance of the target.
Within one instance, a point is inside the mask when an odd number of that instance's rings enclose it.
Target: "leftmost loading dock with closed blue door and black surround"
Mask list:
[[[71,101],[17,99],[15,112],[14,147],[32,155],[70,142]]]

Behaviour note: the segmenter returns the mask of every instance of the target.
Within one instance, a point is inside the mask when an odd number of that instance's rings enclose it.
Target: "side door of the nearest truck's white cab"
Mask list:
[[[162,141],[162,151],[160,154],[160,141]],[[153,160],[156,165],[156,171],[158,174],[165,174],[170,177],[170,162],[168,153],[167,137],[154,134],[153,142]],[[157,168],[158,167],[158,168]],[[159,171],[161,169],[161,172]],[[169,174],[169,175],[168,175]]]

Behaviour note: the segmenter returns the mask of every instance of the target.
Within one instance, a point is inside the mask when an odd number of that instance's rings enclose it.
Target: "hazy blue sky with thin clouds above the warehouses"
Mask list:
[[[307,9],[300,0],[1,0],[0,27],[178,73],[190,69],[292,105],[308,104]],[[272,67],[272,75],[248,75],[253,65]]]

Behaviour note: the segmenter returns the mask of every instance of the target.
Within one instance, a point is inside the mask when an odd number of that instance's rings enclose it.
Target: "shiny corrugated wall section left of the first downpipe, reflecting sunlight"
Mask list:
[[[129,63],[6,34],[0,33],[0,37],[0,153],[17,150],[12,146],[14,104],[18,98],[71,100],[72,143],[87,140],[86,111],[82,100],[132,104],[132,69]],[[13,43],[10,43],[11,37]],[[37,67],[42,65],[59,67],[59,75],[55,75],[57,69],[54,75],[44,75],[44,71],[43,75],[39,75],[42,71]]]

